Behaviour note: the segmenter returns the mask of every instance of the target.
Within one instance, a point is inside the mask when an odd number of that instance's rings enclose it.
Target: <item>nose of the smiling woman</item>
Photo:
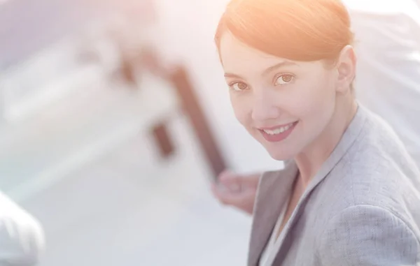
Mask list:
[[[280,116],[280,108],[276,106],[275,97],[269,94],[259,93],[254,95],[252,119],[255,121],[265,121],[276,119]]]

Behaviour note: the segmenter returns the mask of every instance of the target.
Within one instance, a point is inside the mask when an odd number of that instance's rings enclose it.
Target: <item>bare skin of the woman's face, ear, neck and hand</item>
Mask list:
[[[297,164],[300,175],[290,191],[287,221],[311,178],[356,114],[357,103],[351,93],[356,72],[353,47],[346,45],[332,65],[321,60],[293,61],[255,50],[226,31],[219,52],[238,121],[272,158],[293,158]],[[278,142],[266,140],[261,131],[290,123],[295,123],[293,131]],[[230,184],[244,180],[258,184],[259,177],[260,174],[223,172],[213,193],[226,205],[252,214],[257,186],[245,186],[247,189],[242,191],[232,189]]]

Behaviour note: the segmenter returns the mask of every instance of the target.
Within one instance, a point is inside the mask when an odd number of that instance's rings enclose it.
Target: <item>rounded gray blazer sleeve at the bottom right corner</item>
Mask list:
[[[321,234],[321,265],[419,265],[419,239],[386,209],[358,205],[334,216]]]

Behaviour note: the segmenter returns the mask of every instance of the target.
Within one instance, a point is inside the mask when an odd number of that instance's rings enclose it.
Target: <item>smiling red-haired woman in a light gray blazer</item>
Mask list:
[[[232,0],[216,32],[235,115],[272,158],[248,265],[417,265],[420,172],[356,102],[338,0]]]

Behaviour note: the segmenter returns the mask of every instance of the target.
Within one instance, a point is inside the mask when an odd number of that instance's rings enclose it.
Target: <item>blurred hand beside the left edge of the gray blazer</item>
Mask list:
[[[261,175],[238,175],[225,170],[218,176],[218,182],[212,185],[211,191],[224,205],[236,207],[252,215]]]

